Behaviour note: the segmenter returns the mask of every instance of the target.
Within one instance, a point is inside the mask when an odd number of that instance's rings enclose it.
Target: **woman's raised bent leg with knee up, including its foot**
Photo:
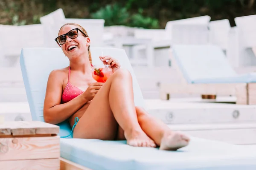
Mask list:
[[[132,77],[119,69],[99,90],[74,130],[74,138],[113,140],[118,125],[124,130],[127,144],[155,147],[141,129],[134,106]]]

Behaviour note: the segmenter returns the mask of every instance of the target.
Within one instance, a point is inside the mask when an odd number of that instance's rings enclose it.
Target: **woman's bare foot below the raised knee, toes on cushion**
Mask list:
[[[150,139],[143,130],[134,130],[131,133],[125,132],[127,144],[137,147],[156,147],[155,142]]]

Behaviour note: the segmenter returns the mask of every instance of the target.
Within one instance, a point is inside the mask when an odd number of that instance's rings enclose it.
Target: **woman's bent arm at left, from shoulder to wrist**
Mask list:
[[[88,102],[87,97],[81,94],[71,101],[61,104],[62,74],[64,73],[60,70],[54,70],[49,74],[44,99],[44,121],[54,125],[68,119]]]

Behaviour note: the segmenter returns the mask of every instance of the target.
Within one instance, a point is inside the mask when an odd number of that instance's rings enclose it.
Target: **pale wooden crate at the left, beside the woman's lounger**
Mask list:
[[[60,170],[59,127],[40,121],[0,125],[0,169]]]

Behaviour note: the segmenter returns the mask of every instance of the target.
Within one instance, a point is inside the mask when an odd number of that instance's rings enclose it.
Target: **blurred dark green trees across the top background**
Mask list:
[[[230,20],[256,14],[255,0],[0,0],[0,24],[40,23],[39,18],[62,8],[66,18],[102,18],[105,26],[165,28],[166,22],[209,15]]]

